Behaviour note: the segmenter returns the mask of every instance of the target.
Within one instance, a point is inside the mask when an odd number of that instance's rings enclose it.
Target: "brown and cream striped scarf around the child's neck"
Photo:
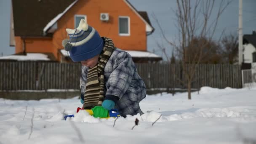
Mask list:
[[[104,67],[115,50],[115,46],[110,38],[102,38],[104,40],[104,48],[99,55],[98,64],[95,67],[88,69],[83,103],[83,108],[85,109],[101,106],[102,101],[104,100]]]

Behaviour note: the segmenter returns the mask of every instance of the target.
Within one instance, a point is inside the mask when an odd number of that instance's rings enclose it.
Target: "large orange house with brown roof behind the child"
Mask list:
[[[147,12],[137,11],[128,0],[12,0],[12,9],[10,45],[16,54],[51,53],[53,61],[70,61],[61,45],[65,29],[86,19],[135,62],[162,60],[147,51],[147,36],[154,32]]]

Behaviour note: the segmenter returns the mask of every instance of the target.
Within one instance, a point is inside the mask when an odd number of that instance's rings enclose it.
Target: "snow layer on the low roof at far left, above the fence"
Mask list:
[[[12,59],[17,61],[49,61],[50,59],[43,53],[27,53],[27,56],[23,55],[11,55],[3,56],[0,59]]]

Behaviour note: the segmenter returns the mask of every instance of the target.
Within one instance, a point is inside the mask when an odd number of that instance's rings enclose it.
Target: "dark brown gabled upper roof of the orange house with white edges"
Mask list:
[[[148,35],[154,32],[147,12],[137,11],[124,0],[145,22]],[[65,3],[64,3],[65,2]],[[77,0],[12,0],[15,36],[42,37]],[[25,21],[25,22],[24,22]],[[51,36],[48,34],[46,36]]]

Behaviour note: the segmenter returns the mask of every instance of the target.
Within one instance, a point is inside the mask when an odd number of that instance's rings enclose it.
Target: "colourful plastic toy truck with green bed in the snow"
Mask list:
[[[83,108],[77,107],[77,112],[79,112],[80,110],[85,110],[86,112],[88,112],[89,115],[92,115],[93,117],[100,117],[100,118],[120,117],[117,109],[107,110],[101,106],[95,106],[92,109],[83,109]],[[64,116],[64,119],[67,120],[67,117],[75,117],[75,115],[66,115]]]

